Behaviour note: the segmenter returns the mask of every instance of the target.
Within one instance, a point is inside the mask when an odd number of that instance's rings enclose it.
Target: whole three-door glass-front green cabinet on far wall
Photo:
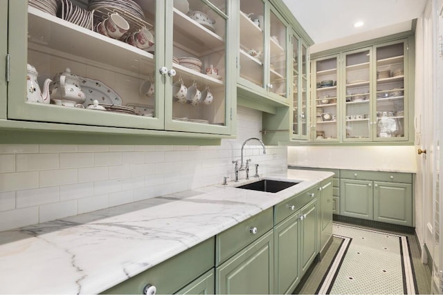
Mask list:
[[[412,143],[413,37],[362,45],[311,61],[312,140]]]

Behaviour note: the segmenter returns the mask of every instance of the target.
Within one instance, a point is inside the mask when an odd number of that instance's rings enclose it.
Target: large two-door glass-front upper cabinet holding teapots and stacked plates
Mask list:
[[[8,119],[230,134],[228,2],[9,1]]]

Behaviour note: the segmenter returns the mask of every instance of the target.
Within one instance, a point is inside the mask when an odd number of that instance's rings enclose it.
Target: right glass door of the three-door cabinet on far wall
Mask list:
[[[396,44],[375,48],[377,59],[377,85],[374,122],[377,122],[375,138],[378,140],[404,140],[408,134],[407,105],[405,103],[405,46]]]

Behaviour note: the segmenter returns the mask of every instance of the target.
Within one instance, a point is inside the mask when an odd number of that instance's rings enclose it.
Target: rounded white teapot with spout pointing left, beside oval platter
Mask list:
[[[53,82],[49,85],[51,99],[60,106],[75,106],[86,100],[86,95],[80,88],[80,78],[66,68],[64,73],[55,75]]]

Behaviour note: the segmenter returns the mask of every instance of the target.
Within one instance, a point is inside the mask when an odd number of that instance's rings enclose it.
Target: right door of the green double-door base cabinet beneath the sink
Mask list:
[[[300,219],[300,276],[303,276],[318,253],[317,200],[313,200],[307,204],[307,206],[301,210],[300,214],[303,216],[303,219]]]

